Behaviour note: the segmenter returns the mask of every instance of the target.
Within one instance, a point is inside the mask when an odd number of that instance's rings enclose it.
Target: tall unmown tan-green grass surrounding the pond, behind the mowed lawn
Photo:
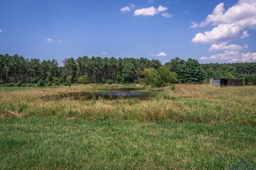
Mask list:
[[[85,101],[70,96],[109,88],[107,84],[0,88],[0,117],[256,124],[256,86],[220,88],[208,84],[176,84],[174,89],[173,86],[148,89],[158,93],[151,100]]]

